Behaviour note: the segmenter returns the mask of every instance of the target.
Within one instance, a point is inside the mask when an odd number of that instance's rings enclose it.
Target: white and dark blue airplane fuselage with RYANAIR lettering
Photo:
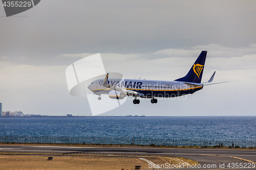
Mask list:
[[[109,94],[113,89],[102,86],[103,81],[104,79],[95,80],[88,88],[97,95]],[[173,98],[192,94],[203,88],[201,83],[145,79],[109,79],[108,84],[113,87],[136,91],[141,98]]]

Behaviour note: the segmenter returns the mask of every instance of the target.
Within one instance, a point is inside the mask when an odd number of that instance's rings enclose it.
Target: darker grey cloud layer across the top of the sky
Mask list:
[[[36,65],[42,57],[52,63],[59,54],[138,54],[212,43],[237,48],[255,43],[255,5],[254,1],[44,1],[20,14],[28,17],[2,18],[0,52],[10,60],[36,58],[32,63]],[[4,9],[0,11],[4,15]]]

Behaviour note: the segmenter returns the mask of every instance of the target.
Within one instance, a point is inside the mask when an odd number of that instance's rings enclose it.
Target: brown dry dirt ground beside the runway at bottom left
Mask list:
[[[62,156],[52,155],[0,155],[0,169],[134,169],[136,165],[148,168],[148,163],[136,157],[104,157],[104,156]],[[147,158],[145,158],[147,159]],[[160,163],[157,158],[152,161]],[[154,162],[155,163],[155,162]],[[164,162],[162,162],[164,163]],[[114,166],[113,166],[114,165]]]

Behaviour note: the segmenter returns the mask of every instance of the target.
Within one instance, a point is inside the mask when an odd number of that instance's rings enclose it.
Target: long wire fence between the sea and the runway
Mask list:
[[[18,143],[85,143],[85,144],[136,144],[211,147],[214,145],[256,147],[256,140],[214,139],[159,139],[147,137],[100,137],[100,136],[13,136],[2,135],[0,142]]]

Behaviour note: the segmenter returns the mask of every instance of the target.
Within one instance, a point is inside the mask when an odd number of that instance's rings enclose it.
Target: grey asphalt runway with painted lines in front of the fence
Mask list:
[[[190,169],[241,169],[253,167],[256,162],[256,150],[238,149],[169,149],[169,148],[142,148],[142,147],[56,147],[33,145],[0,145],[0,152],[48,152],[48,153],[88,153],[102,155],[115,153],[116,155],[144,155],[155,154],[160,156],[176,156],[195,160],[201,167]],[[218,155],[218,156],[217,156]],[[229,166],[228,166],[229,165]],[[255,164],[254,164],[255,165]],[[162,166],[166,168],[167,165]],[[181,166],[179,166],[181,167]],[[188,169],[187,167],[184,167]],[[159,169],[159,168],[157,168]],[[253,168],[255,169],[255,168]]]

